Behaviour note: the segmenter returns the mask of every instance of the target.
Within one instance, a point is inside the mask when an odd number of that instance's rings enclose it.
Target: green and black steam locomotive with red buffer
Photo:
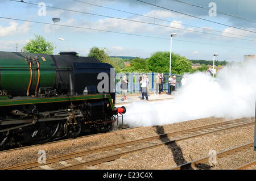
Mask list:
[[[114,107],[113,74],[110,64],[76,52],[0,52],[0,149],[109,131],[126,112]]]

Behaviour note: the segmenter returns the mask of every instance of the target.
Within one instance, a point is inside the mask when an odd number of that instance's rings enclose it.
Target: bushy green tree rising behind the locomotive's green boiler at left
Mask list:
[[[35,35],[35,34],[34,34]],[[31,39],[24,47],[25,53],[53,53],[52,42],[46,41],[43,36],[35,35],[35,39]]]

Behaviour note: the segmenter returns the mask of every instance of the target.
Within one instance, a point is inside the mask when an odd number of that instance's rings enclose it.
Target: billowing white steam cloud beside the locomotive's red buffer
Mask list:
[[[126,107],[124,123],[130,127],[172,124],[205,117],[240,119],[255,115],[256,64],[225,67],[210,77],[197,72],[187,75],[186,85],[173,100],[134,102]]]

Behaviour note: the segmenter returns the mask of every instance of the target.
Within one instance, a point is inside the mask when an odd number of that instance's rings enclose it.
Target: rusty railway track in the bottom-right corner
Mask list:
[[[245,144],[245,145],[237,146],[236,148],[232,148],[232,149],[228,149],[228,150],[225,150],[225,151],[221,151],[221,152],[216,154],[216,158],[221,158],[221,157],[224,157],[226,155],[229,155],[229,154],[232,154],[232,153],[236,153],[237,151],[241,151],[243,149],[250,148],[251,146],[254,146],[254,142],[250,142],[250,143]],[[211,157],[211,155],[209,155],[207,157],[200,158],[200,159],[196,159],[195,161],[184,163],[182,165],[173,167],[170,170],[189,169],[189,168],[191,168],[193,166],[196,166],[197,164],[209,163],[209,158],[210,157]],[[256,161],[250,162],[250,163],[247,163],[246,165],[243,165],[243,166],[239,167],[238,169],[245,169],[245,168],[250,167],[250,166],[255,165],[255,164],[256,164]]]

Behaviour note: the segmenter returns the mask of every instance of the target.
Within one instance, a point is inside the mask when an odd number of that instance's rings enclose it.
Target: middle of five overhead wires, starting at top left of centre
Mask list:
[[[127,13],[127,14],[142,16],[142,17],[145,17],[145,18],[151,18],[151,19],[161,20],[161,21],[164,21],[164,22],[170,22],[170,23],[175,23],[175,24],[181,24],[181,25],[183,25],[183,26],[189,26],[189,27],[194,27],[194,28],[200,28],[200,29],[206,30],[206,31],[214,31],[214,32],[225,33],[225,34],[229,34],[229,35],[236,35],[236,36],[249,37],[249,38],[252,38],[252,39],[256,39],[256,37],[252,37],[252,36],[239,35],[239,34],[237,34],[237,33],[223,32],[223,31],[218,31],[218,30],[211,30],[211,29],[209,29],[209,28],[197,27],[197,26],[193,26],[193,25],[190,25],[190,24],[174,22],[174,21],[167,20],[167,19],[161,19],[161,18],[155,18],[155,17],[152,17],[152,16],[137,14],[137,13],[130,12],[130,11],[123,11],[123,10],[113,9],[113,8],[111,8],[111,7],[100,6],[100,5],[96,5],[96,4],[88,3],[88,2],[84,2],[84,1],[79,1],[79,0],[73,0],[73,1],[80,2],[80,3],[85,3],[86,5],[90,5],[90,6],[93,5],[93,6],[96,6],[96,7],[102,7],[102,8],[104,8],[104,9],[109,9],[109,10],[114,10],[114,11],[119,11],[119,12],[125,12],[125,13]],[[174,0],[174,1],[176,1],[176,0]]]

